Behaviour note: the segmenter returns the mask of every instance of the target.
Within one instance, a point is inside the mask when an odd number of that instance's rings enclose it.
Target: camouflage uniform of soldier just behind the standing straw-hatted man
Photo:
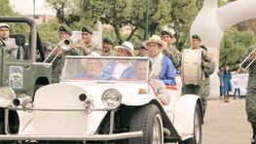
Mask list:
[[[169,46],[163,53],[170,58],[175,68],[180,67],[182,55],[175,47]]]

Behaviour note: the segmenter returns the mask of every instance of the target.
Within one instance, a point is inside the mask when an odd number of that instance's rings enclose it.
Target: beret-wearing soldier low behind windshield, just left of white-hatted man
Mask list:
[[[115,56],[117,51],[113,48],[113,42],[110,38],[104,38],[102,40],[101,55],[103,56]]]

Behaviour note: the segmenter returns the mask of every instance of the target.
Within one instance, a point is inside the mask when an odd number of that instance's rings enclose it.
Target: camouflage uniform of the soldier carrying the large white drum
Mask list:
[[[204,65],[202,65],[202,73],[201,73],[201,85],[185,85],[182,89],[182,94],[197,94],[201,97],[201,102],[202,102],[202,107],[203,107],[203,112],[206,109],[207,106],[207,96],[204,96],[204,90],[205,90],[205,84],[208,84],[206,86],[209,87],[209,78],[206,80],[206,75],[205,75],[205,69],[212,70],[214,71],[215,63],[212,62],[211,57],[207,52],[203,49],[201,49],[202,53],[202,61],[204,61]],[[206,82],[207,81],[207,82]],[[207,88],[206,88],[207,89]]]

